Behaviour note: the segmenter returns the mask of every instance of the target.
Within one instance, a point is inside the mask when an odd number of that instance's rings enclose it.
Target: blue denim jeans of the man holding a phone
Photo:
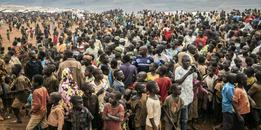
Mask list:
[[[181,109],[181,114],[180,114],[181,130],[187,130],[188,114],[191,108],[191,104],[192,103],[184,106],[184,108]]]

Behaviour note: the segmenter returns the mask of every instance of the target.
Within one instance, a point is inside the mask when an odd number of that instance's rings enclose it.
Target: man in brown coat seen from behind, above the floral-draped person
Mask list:
[[[61,81],[62,71],[66,68],[69,68],[73,72],[73,79],[78,85],[79,89],[82,89],[83,84],[83,74],[82,74],[82,65],[80,62],[76,61],[73,57],[72,50],[63,51],[63,62],[59,65],[57,74],[58,81]]]

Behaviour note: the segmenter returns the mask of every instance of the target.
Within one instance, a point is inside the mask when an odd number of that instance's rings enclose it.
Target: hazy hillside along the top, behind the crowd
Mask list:
[[[157,12],[173,12],[176,10],[210,12],[216,9],[220,12],[223,9],[230,12],[233,9],[259,9],[261,2],[260,0],[1,0],[1,5],[74,8],[96,12],[121,8],[124,12],[136,14],[143,9],[156,10]]]

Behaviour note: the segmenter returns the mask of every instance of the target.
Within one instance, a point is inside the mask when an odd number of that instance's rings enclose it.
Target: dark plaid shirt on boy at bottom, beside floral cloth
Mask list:
[[[72,130],[89,130],[89,124],[93,119],[93,115],[86,107],[83,107],[81,113],[78,115],[76,115],[74,109],[71,108],[69,119],[71,119],[72,122]]]

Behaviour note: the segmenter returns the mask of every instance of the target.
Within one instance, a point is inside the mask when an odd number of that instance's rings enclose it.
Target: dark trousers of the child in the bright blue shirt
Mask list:
[[[231,130],[233,127],[233,114],[224,112],[223,114],[223,130]]]

